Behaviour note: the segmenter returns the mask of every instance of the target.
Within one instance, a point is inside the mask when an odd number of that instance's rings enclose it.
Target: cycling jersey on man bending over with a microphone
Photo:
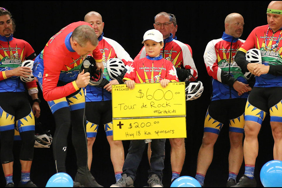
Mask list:
[[[44,50],[34,62],[33,75],[43,78],[43,98],[46,101],[66,97],[79,90],[75,80],[79,74],[83,57],[71,48],[70,37],[73,30],[81,25],[91,26],[87,22],[78,21],[62,28],[49,39]],[[96,49],[93,57],[96,62],[101,62],[102,56]],[[57,87],[58,80],[67,84]]]

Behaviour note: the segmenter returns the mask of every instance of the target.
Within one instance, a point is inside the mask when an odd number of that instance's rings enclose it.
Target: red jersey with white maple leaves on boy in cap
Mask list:
[[[173,64],[159,57],[146,56],[145,58],[129,63],[123,80],[134,80],[135,83],[155,83],[162,79],[179,82]]]

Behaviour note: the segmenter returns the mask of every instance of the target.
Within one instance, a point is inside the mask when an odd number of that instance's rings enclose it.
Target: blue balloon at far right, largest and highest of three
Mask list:
[[[263,187],[282,187],[282,161],[268,161],[261,168],[261,183]]]

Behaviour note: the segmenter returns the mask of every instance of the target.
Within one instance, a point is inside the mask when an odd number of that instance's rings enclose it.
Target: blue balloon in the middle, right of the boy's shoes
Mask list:
[[[202,187],[197,179],[190,176],[180,176],[175,179],[170,187]]]

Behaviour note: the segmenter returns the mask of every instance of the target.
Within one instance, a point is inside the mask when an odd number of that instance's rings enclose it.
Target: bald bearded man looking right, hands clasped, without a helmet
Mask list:
[[[244,40],[244,18],[231,13],[224,21],[225,31],[219,39],[210,41],[204,52],[207,73],[212,78],[212,100],[204,122],[204,136],[198,154],[196,179],[203,186],[212,163],[214,144],[223,125],[229,126],[229,177],[226,187],[236,184],[243,162],[244,110],[251,87],[234,61]],[[225,140],[220,140],[226,142]]]

